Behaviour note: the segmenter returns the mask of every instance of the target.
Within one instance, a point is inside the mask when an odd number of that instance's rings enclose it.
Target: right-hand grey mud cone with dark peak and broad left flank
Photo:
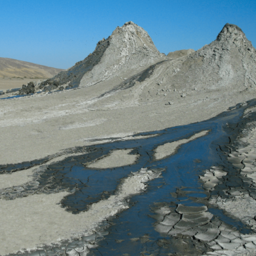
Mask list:
[[[175,101],[198,92],[215,96],[220,92],[251,92],[256,87],[255,63],[255,48],[244,32],[226,24],[217,39],[202,49],[178,58],[169,54],[166,61],[158,62],[140,98],[146,102],[148,98],[161,101],[171,96]],[[140,77],[136,77],[137,81]]]

